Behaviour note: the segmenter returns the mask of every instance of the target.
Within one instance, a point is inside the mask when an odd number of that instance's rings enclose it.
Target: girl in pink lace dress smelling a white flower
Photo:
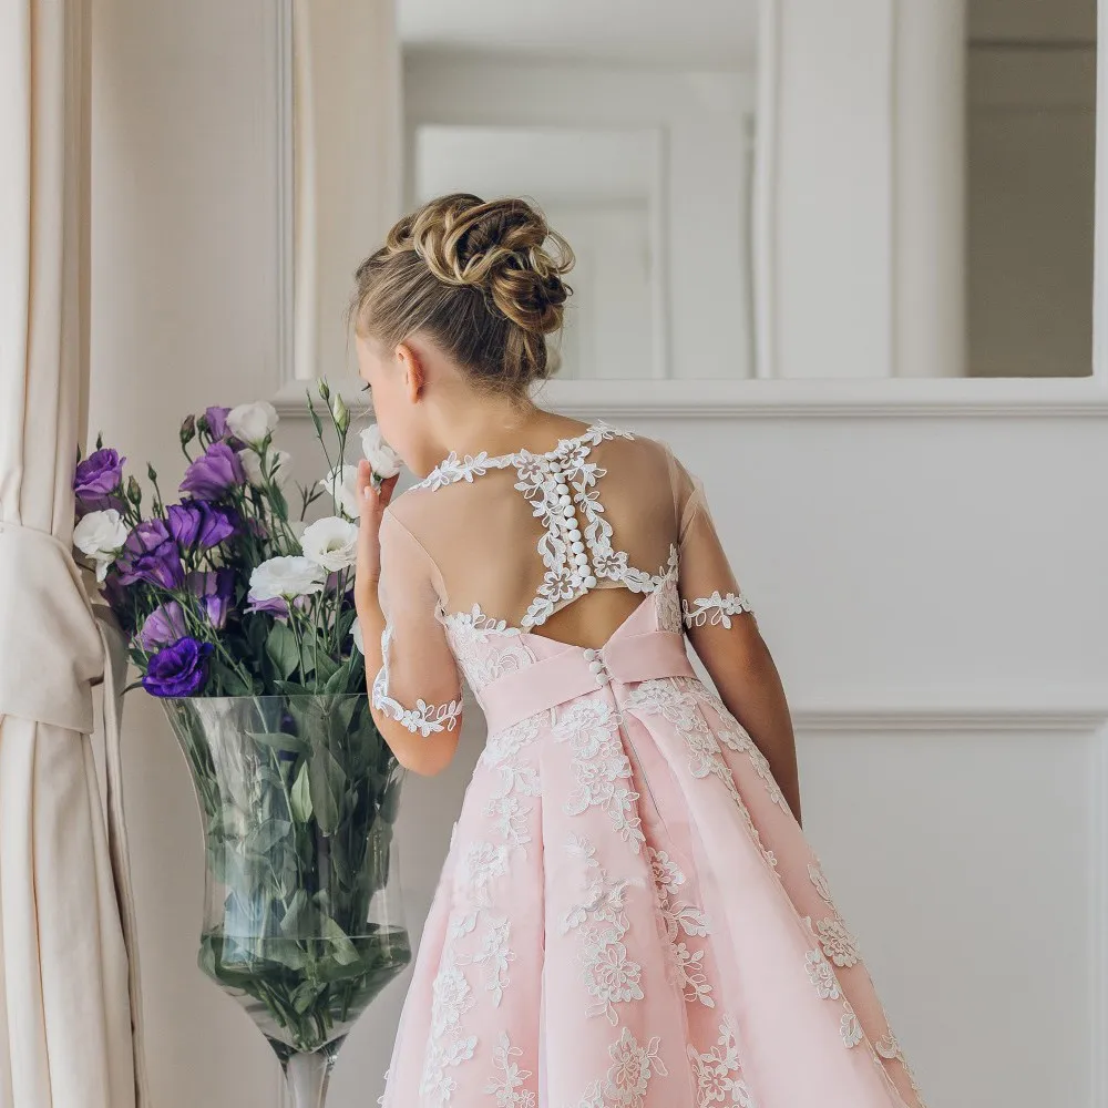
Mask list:
[[[360,372],[422,475],[360,473],[375,718],[435,773],[464,676],[489,733],[382,1104],[919,1108],[700,483],[529,399],[572,260],[523,201],[459,194],[357,275]]]

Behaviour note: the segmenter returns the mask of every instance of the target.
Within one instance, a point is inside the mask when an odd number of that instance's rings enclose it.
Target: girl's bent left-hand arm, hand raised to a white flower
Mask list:
[[[360,463],[355,605],[366,645],[373,721],[401,766],[433,774],[450,765],[458,748],[461,688],[434,615],[433,565],[386,511],[396,483],[390,478],[375,489],[369,463]]]

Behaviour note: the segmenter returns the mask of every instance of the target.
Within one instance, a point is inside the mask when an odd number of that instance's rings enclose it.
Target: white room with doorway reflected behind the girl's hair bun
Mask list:
[[[757,0],[633,8],[400,0],[407,199],[538,204],[562,377],[747,377]]]

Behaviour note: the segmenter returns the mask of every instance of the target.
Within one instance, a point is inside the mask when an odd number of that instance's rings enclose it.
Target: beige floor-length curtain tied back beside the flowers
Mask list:
[[[88,383],[88,0],[0,0],[0,1108],[144,1099],[119,667],[104,674],[70,556]],[[88,738],[102,676],[111,835]]]

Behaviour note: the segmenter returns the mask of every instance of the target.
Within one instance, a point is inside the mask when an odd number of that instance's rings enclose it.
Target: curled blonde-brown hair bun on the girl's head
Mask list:
[[[396,248],[414,249],[439,280],[482,289],[523,330],[548,335],[562,326],[573,291],[562,275],[573,250],[526,201],[453,193],[401,220],[393,236]]]

